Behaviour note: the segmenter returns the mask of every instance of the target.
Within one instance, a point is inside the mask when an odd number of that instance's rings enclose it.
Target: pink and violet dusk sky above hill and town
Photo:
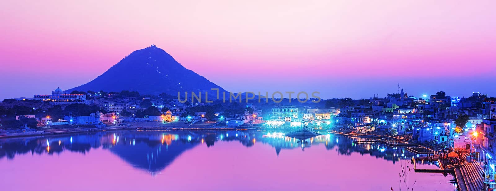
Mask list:
[[[400,83],[414,95],[494,95],[495,6],[492,0],[1,1],[0,99],[81,85],[151,44],[233,92],[368,98],[395,92]]]

